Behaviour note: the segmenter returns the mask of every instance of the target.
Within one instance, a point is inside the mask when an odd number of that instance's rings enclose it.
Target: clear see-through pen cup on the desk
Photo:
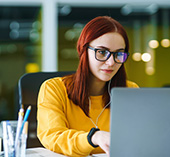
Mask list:
[[[28,122],[16,139],[18,121],[2,121],[3,150],[5,157],[25,157]]]

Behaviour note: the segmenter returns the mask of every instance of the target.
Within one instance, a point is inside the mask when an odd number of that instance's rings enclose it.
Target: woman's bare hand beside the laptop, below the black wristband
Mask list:
[[[94,145],[99,145],[101,149],[103,149],[106,154],[109,155],[110,148],[110,132],[106,131],[96,131],[91,139]]]

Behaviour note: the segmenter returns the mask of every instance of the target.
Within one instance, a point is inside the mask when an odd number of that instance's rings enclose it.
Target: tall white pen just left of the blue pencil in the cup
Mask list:
[[[21,108],[18,113],[18,124],[17,124],[17,131],[16,131],[16,137],[15,137],[15,147],[17,146],[17,143],[18,143],[18,138],[19,138],[19,133],[20,133],[20,129],[22,126],[23,117],[24,117],[24,109]]]

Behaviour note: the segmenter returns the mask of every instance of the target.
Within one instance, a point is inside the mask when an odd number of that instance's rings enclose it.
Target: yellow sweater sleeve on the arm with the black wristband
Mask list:
[[[38,96],[37,135],[47,149],[68,156],[87,156],[94,149],[87,141],[88,132],[69,128],[68,103],[61,79],[44,82]]]

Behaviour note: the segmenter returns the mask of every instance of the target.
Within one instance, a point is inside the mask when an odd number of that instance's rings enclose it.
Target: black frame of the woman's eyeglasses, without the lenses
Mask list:
[[[97,59],[96,53],[97,53],[97,50],[102,50],[102,49],[100,49],[100,48],[93,48],[93,47],[91,47],[91,46],[88,46],[88,48],[91,49],[91,50],[93,50],[93,51],[95,52],[95,58],[96,58],[96,60],[101,61],[101,62],[107,61],[107,60],[110,58],[110,56],[113,54],[113,59],[114,59],[114,61],[115,61],[117,64],[123,64],[123,63],[125,63],[125,62],[127,61],[128,56],[130,55],[129,52],[124,52],[124,53],[127,54],[126,60],[125,60],[124,62],[117,62],[117,61],[115,60],[115,55],[116,55],[118,52],[110,52],[109,50],[106,50],[106,51],[109,52],[108,57],[106,58],[106,60],[100,60],[100,59]]]

